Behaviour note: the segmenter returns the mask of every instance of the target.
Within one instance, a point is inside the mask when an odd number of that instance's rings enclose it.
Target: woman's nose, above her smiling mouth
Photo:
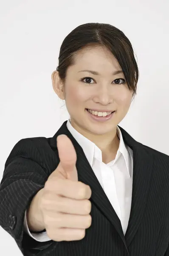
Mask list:
[[[95,103],[100,103],[101,105],[107,105],[113,102],[113,95],[106,86],[102,86],[97,89],[93,101]]]

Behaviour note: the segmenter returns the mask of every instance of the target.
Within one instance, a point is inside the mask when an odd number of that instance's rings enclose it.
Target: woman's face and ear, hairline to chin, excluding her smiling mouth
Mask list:
[[[98,75],[81,70],[96,71]],[[59,82],[57,71],[52,74],[54,90],[59,98],[65,99],[71,125],[85,137],[110,137],[126,116],[132,92],[123,72],[115,74],[119,70],[118,61],[107,48],[93,47],[75,55],[75,64],[68,68],[65,84]],[[115,112],[110,119],[99,121],[87,109]]]

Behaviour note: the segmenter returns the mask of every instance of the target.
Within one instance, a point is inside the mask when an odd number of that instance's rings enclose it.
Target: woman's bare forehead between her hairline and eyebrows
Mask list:
[[[115,56],[106,47],[85,47],[74,55],[75,68],[111,70],[120,69],[120,65]],[[98,71],[99,71],[98,70]]]

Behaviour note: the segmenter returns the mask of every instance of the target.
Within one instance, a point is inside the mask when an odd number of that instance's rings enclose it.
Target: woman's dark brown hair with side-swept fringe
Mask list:
[[[64,39],[56,70],[64,82],[69,66],[75,64],[73,56],[85,47],[104,46],[113,53],[123,70],[129,90],[136,94],[138,65],[129,39],[115,26],[105,23],[86,23],[73,29]]]

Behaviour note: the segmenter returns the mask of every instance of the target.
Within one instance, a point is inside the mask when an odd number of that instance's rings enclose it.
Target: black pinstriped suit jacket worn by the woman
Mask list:
[[[169,256],[169,156],[135,141],[132,205],[127,232],[65,121],[54,137],[26,138],[12,149],[0,185],[0,225],[25,256]],[[25,209],[59,164],[56,137],[66,134],[76,153],[79,180],[92,190],[92,224],[79,241],[38,242],[23,231]]]

